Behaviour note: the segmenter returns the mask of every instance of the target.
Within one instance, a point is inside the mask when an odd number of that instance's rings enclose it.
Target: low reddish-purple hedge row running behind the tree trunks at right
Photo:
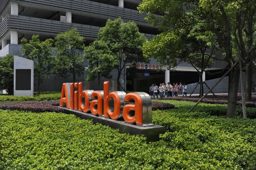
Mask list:
[[[198,97],[165,97],[165,98],[158,98],[158,100],[179,100],[179,101],[191,101],[191,102],[197,102],[200,98]],[[228,104],[228,100],[225,98],[204,98],[202,103],[208,103],[208,104]],[[237,101],[238,106],[242,106],[242,101]],[[245,102],[246,107],[256,107],[256,101],[251,102]]]

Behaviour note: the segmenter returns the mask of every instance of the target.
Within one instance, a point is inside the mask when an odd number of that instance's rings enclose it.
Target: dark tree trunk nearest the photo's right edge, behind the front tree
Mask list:
[[[246,65],[246,81],[245,81],[245,101],[252,101],[252,75],[253,62]]]

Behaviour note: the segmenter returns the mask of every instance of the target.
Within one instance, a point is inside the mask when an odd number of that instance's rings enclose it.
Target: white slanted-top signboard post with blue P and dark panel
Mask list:
[[[14,56],[14,96],[34,96],[34,61]]]

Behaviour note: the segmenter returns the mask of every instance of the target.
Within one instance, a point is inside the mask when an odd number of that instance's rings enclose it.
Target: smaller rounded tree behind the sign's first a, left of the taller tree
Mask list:
[[[88,61],[88,73],[86,76],[87,81],[93,81],[98,78],[98,89],[100,87],[100,77],[110,79],[112,75],[110,72],[118,65],[118,58],[112,55],[108,45],[101,41],[96,40],[89,46],[85,47],[84,57]]]

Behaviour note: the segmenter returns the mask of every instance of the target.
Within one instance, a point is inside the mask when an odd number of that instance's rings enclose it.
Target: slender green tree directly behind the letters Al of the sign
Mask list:
[[[73,82],[76,76],[84,72],[82,62],[84,61],[84,38],[79,35],[76,28],[60,33],[55,37],[55,51],[57,56],[54,63],[53,74],[56,77],[68,78],[73,75]]]

